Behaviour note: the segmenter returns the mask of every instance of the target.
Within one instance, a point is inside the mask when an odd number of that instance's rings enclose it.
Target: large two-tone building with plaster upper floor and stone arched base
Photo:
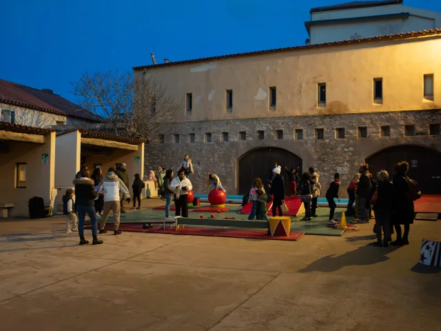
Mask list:
[[[188,153],[194,190],[214,172],[229,194],[274,162],[313,166],[325,190],[341,172],[345,196],[360,163],[407,160],[422,192],[441,194],[439,54],[440,29],[136,67],[182,104],[145,166],[176,170]]]

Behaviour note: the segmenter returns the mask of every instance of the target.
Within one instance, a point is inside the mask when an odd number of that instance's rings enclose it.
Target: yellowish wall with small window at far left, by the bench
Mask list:
[[[10,208],[11,217],[28,217],[28,201],[32,197],[41,197],[45,205],[53,207],[54,167],[55,167],[55,132],[45,136],[45,142],[21,143],[6,141],[8,152],[0,152],[0,173],[3,174],[0,190],[1,203],[15,203]],[[49,163],[43,164],[41,154],[49,154]],[[27,163],[26,188],[16,188],[16,165]]]

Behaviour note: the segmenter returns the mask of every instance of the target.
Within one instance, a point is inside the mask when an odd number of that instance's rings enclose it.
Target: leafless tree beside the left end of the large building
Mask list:
[[[180,107],[167,87],[145,74],[138,79],[118,70],[85,72],[72,83],[72,94],[85,110],[105,118],[115,134],[153,141],[178,120]]]

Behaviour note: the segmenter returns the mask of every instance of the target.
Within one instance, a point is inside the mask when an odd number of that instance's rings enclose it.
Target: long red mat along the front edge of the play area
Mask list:
[[[113,230],[113,225],[105,225],[106,230]],[[305,233],[291,232],[288,237],[271,237],[266,231],[258,230],[234,230],[220,228],[182,228],[174,230],[168,227],[163,230],[162,226],[154,226],[150,229],[143,229],[143,225],[121,223],[119,230],[123,232],[145,232],[145,233],[163,233],[163,234],[184,234],[187,236],[206,236],[206,237],[228,237],[228,238],[248,238],[248,239],[266,239],[266,240],[287,240],[298,241]]]

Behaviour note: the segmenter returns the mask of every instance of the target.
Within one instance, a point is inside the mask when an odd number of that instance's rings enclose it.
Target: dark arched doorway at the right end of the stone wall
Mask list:
[[[366,159],[375,175],[387,170],[393,178],[393,167],[400,161],[409,162],[408,176],[418,182],[423,194],[441,194],[441,153],[422,146],[393,146],[380,150]]]

